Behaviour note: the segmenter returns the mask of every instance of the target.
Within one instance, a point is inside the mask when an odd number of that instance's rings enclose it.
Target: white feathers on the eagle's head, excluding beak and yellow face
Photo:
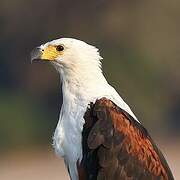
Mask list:
[[[41,48],[49,45],[62,45],[64,47],[63,55],[52,61],[56,69],[62,73],[62,78],[67,79],[76,75],[90,78],[94,77],[95,74],[101,74],[100,60],[102,58],[94,46],[73,38],[61,38],[48,42]]]

